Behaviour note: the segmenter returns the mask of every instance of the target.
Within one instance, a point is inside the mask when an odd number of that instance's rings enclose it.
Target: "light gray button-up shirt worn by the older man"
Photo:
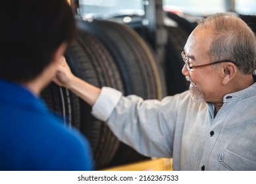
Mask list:
[[[215,116],[190,91],[143,101],[103,87],[92,114],[141,154],[173,158],[174,170],[256,170],[256,83],[223,103]]]

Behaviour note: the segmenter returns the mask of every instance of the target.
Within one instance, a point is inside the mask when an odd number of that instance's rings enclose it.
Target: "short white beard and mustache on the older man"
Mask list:
[[[186,80],[190,81],[190,94],[191,94],[190,99],[192,99],[194,103],[205,102],[205,98],[203,97],[203,94],[201,93],[196,83],[194,83],[189,76],[186,76]]]

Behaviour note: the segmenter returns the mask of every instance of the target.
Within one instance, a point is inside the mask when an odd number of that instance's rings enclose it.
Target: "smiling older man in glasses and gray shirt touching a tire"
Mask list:
[[[199,22],[182,51],[190,91],[162,101],[98,89],[60,66],[55,80],[93,106],[117,137],[174,170],[256,170],[256,38],[237,16]]]

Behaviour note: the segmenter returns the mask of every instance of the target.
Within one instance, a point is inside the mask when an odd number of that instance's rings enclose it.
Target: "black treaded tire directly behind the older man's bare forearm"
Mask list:
[[[82,80],[97,87],[109,86],[124,91],[113,58],[101,42],[88,32],[77,31],[76,41],[66,51],[66,60],[72,72]],[[91,116],[91,107],[82,100],[80,110],[80,131],[91,143],[95,168],[105,168],[115,155],[120,141],[105,123]]]

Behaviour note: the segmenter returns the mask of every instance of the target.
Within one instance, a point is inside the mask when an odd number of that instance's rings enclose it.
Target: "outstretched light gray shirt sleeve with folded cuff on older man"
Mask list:
[[[162,101],[143,100],[136,95],[103,87],[92,114],[107,121],[120,141],[145,156],[172,157],[179,96]]]

